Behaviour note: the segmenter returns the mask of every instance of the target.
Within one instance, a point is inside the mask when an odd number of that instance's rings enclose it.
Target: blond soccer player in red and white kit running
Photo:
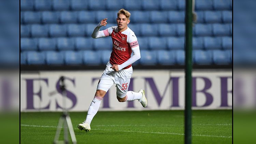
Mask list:
[[[121,9],[117,13],[117,26],[99,31],[102,26],[107,25],[107,18],[105,18],[100,21],[94,29],[93,34],[91,34],[93,38],[111,36],[113,47],[110,60],[101,75],[86,119],[82,124],[77,126],[80,130],[90,131],[91,121],[99,110],[101,100],[114,83],[116,84],[116,96],[119,102],[139,100],[143,107],[147,106],[144,90],[140,90],[138,93],[128,91],[132,75],[131,64],[140,59],[140,48],[137,37],[127,27],[130,22],[130,15],[128,11]],[[132,56],[131,52],[133,52]]]

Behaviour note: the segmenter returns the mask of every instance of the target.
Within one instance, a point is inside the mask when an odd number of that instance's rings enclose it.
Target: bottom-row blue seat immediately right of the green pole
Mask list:
[[[212,52],[203,50],[193,51],[193,61],[198,65],[211,65],[212,64]]]

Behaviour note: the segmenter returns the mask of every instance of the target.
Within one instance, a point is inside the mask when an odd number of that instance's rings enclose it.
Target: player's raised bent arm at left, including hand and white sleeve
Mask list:
[[[105,29],[105,30],[103,30],[103,31],[100,31],[100,28],[101,28],[102,26],[106,26],[106,25],[107,25],[106,20],[107,20],[107,18],[102,19],[102,20],[100,21],[100,23],[97,25],[97,27],[94,29],[93,33],[91,34],[91,37],[92,37],[92,38],[100,38],[100,37],[105,37],[105,36],[109,36],[109,35],[110,35],[108,29]]]

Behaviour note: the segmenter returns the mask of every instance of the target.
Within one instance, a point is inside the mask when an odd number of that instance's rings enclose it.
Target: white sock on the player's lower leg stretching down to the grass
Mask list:
[[[93,120],[93,117],[98,112],[100,108],[100,102],[103,98],[100,96],[95,95],[93,101],[91,102],[91,105],[88,109],[87,116],[85,119],[85,122],[88,124],[91,124],[91,120]]]

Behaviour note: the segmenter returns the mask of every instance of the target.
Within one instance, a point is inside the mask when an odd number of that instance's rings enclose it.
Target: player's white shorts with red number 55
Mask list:
[[[100,77],[97,90],[103,90],[105,92],[108,92],[110,87],[115,83],[116,96],[118,96],[119,98],[124,98],[130,84],[132,67],[119,71],[114,71],[112,68],[110,68],[111,66],[112,65],[110,64],[110,62],[106,64],[106,68]]]

